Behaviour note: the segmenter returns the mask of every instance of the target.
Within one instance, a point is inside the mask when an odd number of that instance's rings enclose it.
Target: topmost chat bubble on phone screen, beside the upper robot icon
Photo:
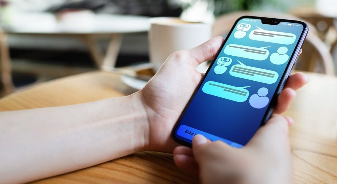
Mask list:
[[[296,40],[296,35],[294,35],[293,33],[268,31],[268,30],[264,30],[259,27],[257,28],[258,29],[254,29],[250,32],[248,36],[250,39],[257,40],[257,41],[285,44],[285,45],[290,45],[294,43]]]

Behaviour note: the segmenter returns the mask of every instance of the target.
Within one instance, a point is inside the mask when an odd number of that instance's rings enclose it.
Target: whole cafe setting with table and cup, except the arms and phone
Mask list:
[[[226,38],[241,16],[299,20],[309,32],[292,72],[309,82],[282,114],[296,122],[289,129],[293,178],[337,183],[336,7],[334,0],[0,0],[0,111],[127,96],[171,53]],[[183,26],[154,24],[165,17]],[[199,182],[172,158],[138,152],[38,182]]]

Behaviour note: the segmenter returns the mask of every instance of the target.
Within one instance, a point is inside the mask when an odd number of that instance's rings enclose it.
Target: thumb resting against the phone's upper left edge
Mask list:
[[[205,61],[213,59],[220,49],[223,40],[223,37],[217,36],[197,47],[187,50],[188,55],[196,61],[193,65],[196,67]]]

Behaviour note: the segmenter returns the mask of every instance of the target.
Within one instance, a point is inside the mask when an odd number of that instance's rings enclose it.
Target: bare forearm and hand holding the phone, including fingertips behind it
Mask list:
[[[215,37],[171,54],[142,90],[126,97],[1,112],[1,182],[34,181],[139,151],[172,152],[179,146],[172,128],[202,78],[195,67],[214,58],[222,42]],[[290,76],[274,112],[285,111],[307,81],[303,73]]]

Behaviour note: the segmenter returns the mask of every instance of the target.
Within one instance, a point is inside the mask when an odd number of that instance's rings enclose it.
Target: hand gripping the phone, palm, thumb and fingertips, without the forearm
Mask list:
[[[222,37],[215,37],[192,49],[174,52],[146,86],[135,94],[141,99],[148,120],[143,125],[144,150],[172,152],[179,146],[171,138],[171,132],[202,79],[203,74],[195,67],[213,59],[222,42]],[[291,75],[278,97],[274,113],[284,112],[294,99],[295,90],[307,80],[303,73]]]

